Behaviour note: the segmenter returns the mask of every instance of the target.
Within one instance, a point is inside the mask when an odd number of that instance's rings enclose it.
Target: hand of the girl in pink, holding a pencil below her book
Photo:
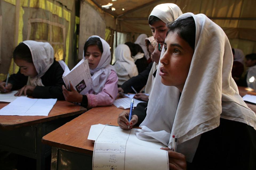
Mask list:
[[[77,103],[81,103],[83,100],[83,95],[79,94],[74,87],[72,86],[72,84],[70,83],[70,91],[68,91],[64,85],[62,85],[62,93],[65,97],[66,101],[69,102],[77,102]]]

